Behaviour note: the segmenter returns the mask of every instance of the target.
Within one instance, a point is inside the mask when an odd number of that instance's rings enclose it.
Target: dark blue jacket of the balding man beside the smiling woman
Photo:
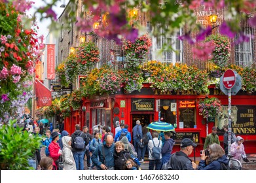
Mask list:
[[[100,165],[103,163],[106,167],[115,167],[115,158],[113,156],[115,152],[115,144],[107,147],[105,142],[98,146],[92,154],[92,162],[96,167],[101,170]],[[99,157],[99,159],[98,159]]]

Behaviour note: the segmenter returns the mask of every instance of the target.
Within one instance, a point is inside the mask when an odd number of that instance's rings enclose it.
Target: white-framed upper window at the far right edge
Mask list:
[[[247,27],[244,29],[246,35],[253,35],[252,29]],[[236,40],[239,39],[239,34],[236,35]],[[253,63],[253,39],[250,37],[248,42],[240,42],[240,44],[235,45],[235,61],[236,65],[243,67],[250,67]]]

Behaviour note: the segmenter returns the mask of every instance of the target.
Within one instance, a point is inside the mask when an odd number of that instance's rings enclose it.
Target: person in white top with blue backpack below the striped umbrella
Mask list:
[[[160,170],[162,165],[162,141],[158,140],[158,133],[153,132],[153,140],[149,141],[149,170]]]

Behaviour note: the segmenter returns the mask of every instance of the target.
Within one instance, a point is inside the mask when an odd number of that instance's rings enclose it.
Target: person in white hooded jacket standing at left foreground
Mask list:
[[[75,159],[71,151],[71,137],[62,137],[62,161],[64,161],[64,170],[76,170]]]

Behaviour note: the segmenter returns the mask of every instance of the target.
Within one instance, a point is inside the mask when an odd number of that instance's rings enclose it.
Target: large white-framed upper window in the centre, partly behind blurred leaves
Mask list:
[[[173,64],[176,62],[182,62],[182,44],[178,39],[179,35],[182,34],[182,30],[180,29],[180,31],[175,33],[172,37],[166,37],[164,36],[164,30],[160,26],[157,29],[160,31],[161,35],[153,37],[153,46],[150,50],[149,59]],[[152,27],[148,22],[147,31],[150,32],[151,30]]]

